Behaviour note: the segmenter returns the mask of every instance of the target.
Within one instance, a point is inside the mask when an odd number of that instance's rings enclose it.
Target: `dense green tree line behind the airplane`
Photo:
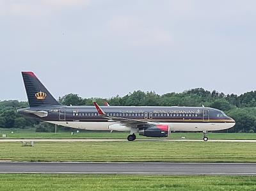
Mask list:
[[[124,106],[202,106],[213,107],[224,111],[236,120],[236,126],[228,132],[255,132],[256,131],[256,91],[243,95],[225,95],[218,91],[207,91],[203,88],[190,89],[182,93],[166,93],[157,95],[155,92],[134,91],[125,96],[112,98],[82,98],[70,93],[59,98],[63,105],[93,105],[93,102],[103,105]],[[17,109],[28,107],[28,102],[17,100],[0,102],[0,128],[26,128],[38,125],[35,119],[24,118],[17,114]],[[225,131],[227,132],[227,131]]]

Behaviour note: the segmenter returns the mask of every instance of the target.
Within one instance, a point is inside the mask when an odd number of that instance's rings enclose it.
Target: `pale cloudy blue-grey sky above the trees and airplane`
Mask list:
[[[0,0],[0,100],[256,90],[254,0]]]

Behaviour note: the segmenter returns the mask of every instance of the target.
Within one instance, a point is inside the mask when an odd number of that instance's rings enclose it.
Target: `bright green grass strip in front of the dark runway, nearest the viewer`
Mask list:
[[[256,190],[256,176],[0,174],[0,190]]]

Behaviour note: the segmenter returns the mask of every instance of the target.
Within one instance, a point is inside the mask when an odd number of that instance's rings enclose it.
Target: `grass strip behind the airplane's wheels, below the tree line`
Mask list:
[[[13,134],[11,133],[13,132]],[[74,135],[71,132],[54,133],[36,133],[35,130],[6,130],[1,129],[1,134],[6,134],[6,138],[2,136],[0,139],[126,139],[129,132],[80,132]],[[202,139],[202,133],[172,133],[168,139]],[[149,137],[138,136],[138,139],[150,139]],[[256,134],[225,134],[225,133],[209,133],[209,139],[256,139]]]

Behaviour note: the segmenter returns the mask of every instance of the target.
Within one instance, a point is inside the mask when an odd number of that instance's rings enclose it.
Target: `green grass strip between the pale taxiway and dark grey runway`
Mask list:
[[[77,162],[256,162],[254,142],[1,142],[0,160]]]

